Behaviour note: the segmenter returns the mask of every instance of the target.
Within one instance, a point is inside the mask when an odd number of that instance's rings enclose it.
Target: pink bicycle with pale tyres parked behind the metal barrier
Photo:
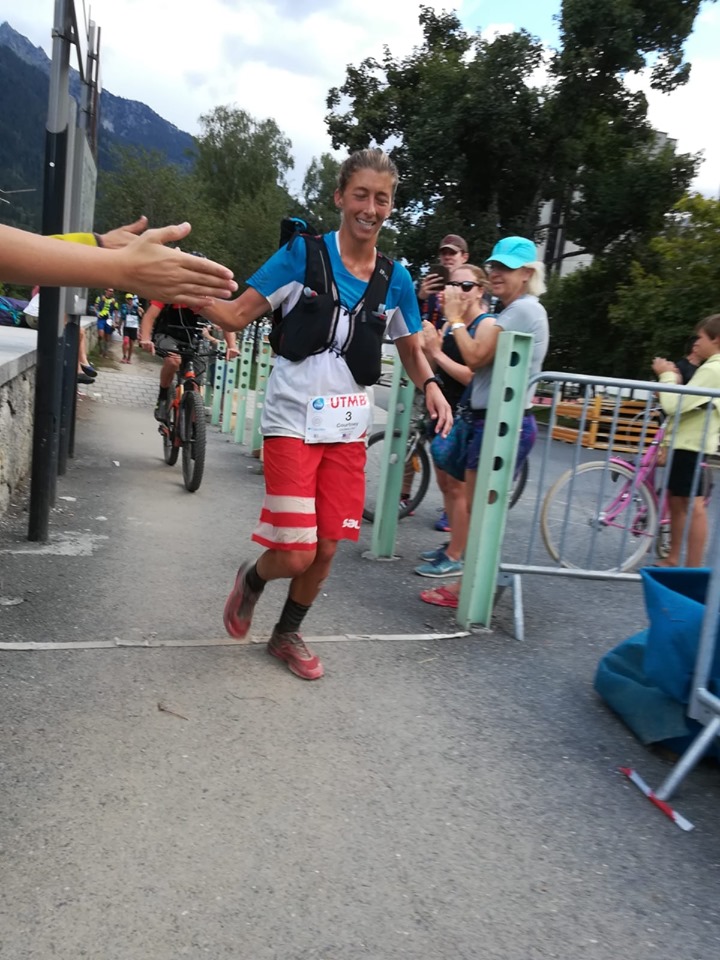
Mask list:
[[[650,547],[661,559],[670,552],[668,496],[658,483],[661,424],[638,463],[622,457],[567,470],[548,490],[540,530],[548,553],[563,567],[627,571]],[[700,467],[698,496],[713,488],[708,464]]]

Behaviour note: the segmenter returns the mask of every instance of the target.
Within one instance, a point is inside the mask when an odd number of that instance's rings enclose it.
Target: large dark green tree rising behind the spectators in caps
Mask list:
[[[563,46],[547,58],[544,86],[534,82],[544,51],[526,32],[484,41],[455,14],[421,7],[417,49],[396,59],[386,48],[330,91],[333,145],[390,146],[402,177],[400,250],[414,266],[446,232],[480,256],[500,235],[539,235],[543,200],[553,202],[550,259],[560,229],[593,253],[644,238],[687,189],[695,161],[657,149],[646,100],[624,76],[652,63],[661,89],[683,82],[698,6],[565,0]]]

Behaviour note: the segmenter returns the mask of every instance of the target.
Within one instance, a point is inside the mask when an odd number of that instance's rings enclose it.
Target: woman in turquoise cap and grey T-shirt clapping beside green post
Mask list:
[[[488,258],[487,270],[490,290],[502,301],[503,310],[492,320],[483,321],[475,331],[474,337],[469,334],[464,319],[462,289],[450,287],[445,293],[445,317],[463,361],[473,371],[470,395],[473,436],[468,449],[465,471],[467,509],[464,514],[466,518],[464,536],[466,539],[498,337],[503,330],[529,333],[532,336],[530,378],[542,369],[550,339],[547,313],[538,299],[545,292],[545,267],[538,260],[535,244],[531,240],[526,240],[525,237],[505,237],[495,244]],[[528,404],[529,402],[530,397],[528,397]],[[528,410],[523,417],[520,431],[516,469],[530,453],[536,436],[535,417]],[[456,534],[455,528],[456,523],[453,522],[453,537]],[[461,535],[460,531],[457,533],[458,536]],[[460,583],[456,582],[447,587],[424,590],[420,594],[420,599],[440,607],[457,607],[459,595]]]

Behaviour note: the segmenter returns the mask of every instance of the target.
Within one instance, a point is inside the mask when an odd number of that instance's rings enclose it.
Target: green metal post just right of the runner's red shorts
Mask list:
[[[374,560],[388,560],[394,556],[398,504],[402,492],[405,450],[410,432],[414,396],[415,385],[405,373],[400,360],[396,359],[393,366],[388,419],[385,425],[386,436],[391,440],[390,443],[386,441],[383,444],[375,522],[370,542],[369,556]]]

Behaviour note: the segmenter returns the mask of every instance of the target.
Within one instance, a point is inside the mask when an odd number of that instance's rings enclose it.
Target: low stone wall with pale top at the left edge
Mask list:
[[[93,317],[83,317],[87,350],[97,342]],[[0,516],[30,474],[37,332],[0,327]]]

